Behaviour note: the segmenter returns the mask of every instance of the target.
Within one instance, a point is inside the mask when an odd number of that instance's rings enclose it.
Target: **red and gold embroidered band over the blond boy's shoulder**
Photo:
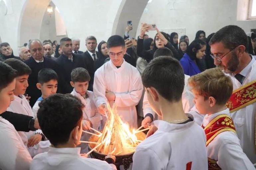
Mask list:
[[[232,118],[226,114],[216,116],[203,129],[206,135],[206,146],[221,132],[231,131],[236,133]]]

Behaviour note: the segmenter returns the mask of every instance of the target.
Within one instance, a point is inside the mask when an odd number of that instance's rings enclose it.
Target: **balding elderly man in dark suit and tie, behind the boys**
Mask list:
[[[60,74],[58,64],[56,61],[44,57],[44,48],[43,44],[38,39],[32,39],[28,43],[29,52],[31,56],[25,63],[30,67],[32,73],[29,76],[28,83],[29,86],[27,88],[27,94],[31,96],[30,105],[33,107],[37,99],[41,96],[41,91],[36,87],[38,83],[38,72],[43,68],[53,69],[59,76],[59,87],[58,91],[62,88],[62,75]],[[61,87],[61,88],[60,88]]]

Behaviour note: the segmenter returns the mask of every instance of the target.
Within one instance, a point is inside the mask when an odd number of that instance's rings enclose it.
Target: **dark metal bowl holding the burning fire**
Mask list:
[[[136,136],[137,137],[139,136],[140,139],[141,138],[143,138],[143,139],[146,138],[146,135],[143,132],[138,133],[138,135],[136,135]],[[91,136],[89,141],[97,142],[97,141],[94,141],[93,138],[94,138],[94,136]],[[141,140],[143,140],[143,139],[141,139]],[[93,147],[91,147],[91,144],[88,144],[89,151],[92,148]],[[123,155],[114,155],[116,157],[115,165],[116,165],[117,169],[120,169],[120,165],[123,165],[124,169],[127,170],[130,167],[131,163],[132,163],[132,156],[133,156],[133,154],[134,154],[134,152],[123,154]],[[96,150],[91,152],[90,155],[91,155],[92,158],[96,158],[96,159],[99,159],[99,160],[105,160],[105,156],[107,156],[106,154],[97,152]]]

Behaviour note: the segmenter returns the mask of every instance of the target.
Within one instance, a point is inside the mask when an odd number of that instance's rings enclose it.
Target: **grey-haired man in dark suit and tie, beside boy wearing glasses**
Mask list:
[[[85,39],[85,44],[87,51],[85,51],[82,55],[85,59],[85,64],[87,71],[90,74],[91,80],[89,82],[89,87],[88,90],[92,91],[93,90],[93,79],[94,79],[94,62],[98,58],[99,54],[97,51],[95,51],[97,47],[97,40],[94,36],[88,36]]]

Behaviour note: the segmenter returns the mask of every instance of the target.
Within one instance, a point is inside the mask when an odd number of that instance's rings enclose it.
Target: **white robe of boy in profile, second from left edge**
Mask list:
[[[22,95],[20,97],[14,95],[14,100],[11,102],[10,106],[7,108],[7,111],[34,117],[31,106],[29,105],[29,102],[25,98],[24,95]],[[36,132],[42,133],[42,131],[40,129],[37,130]],[[20,135],[25,146],[27,146],[28,139],[30,137],[34,136],[35,132],[19,131],[18,134]],[[40,141],[38,144],[34,145],[33,147],[28,147],[28,151],[31,154],[31,156],[33,157],[38,153],[48,151],[50,145],[51,145],[50,141]]]

